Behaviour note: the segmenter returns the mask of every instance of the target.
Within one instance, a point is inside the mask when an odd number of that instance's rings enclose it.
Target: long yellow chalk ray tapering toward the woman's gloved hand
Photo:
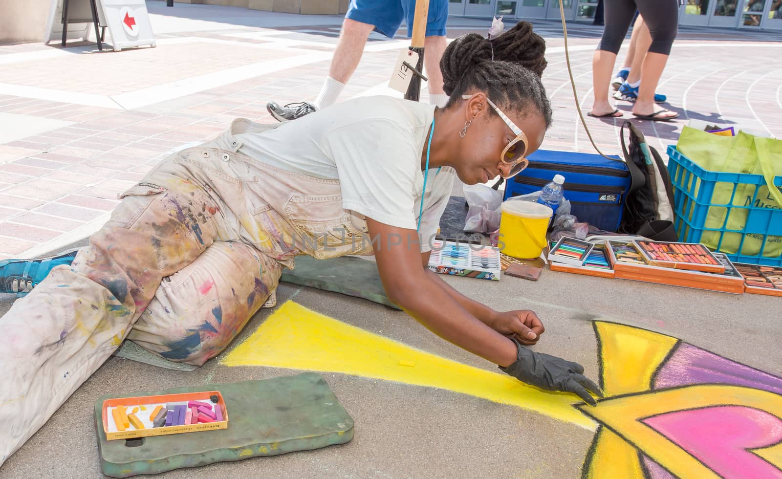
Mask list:
[[[572,403],[580,402],[573,394],[541,391],[504,373],[492,373],[419,351],[292,301],[282,304],[221,363],[328,371],[439,387],[518,405],[585,429],[596,427],[572,407]],[[405,366],[411,363],[414,366]]]

